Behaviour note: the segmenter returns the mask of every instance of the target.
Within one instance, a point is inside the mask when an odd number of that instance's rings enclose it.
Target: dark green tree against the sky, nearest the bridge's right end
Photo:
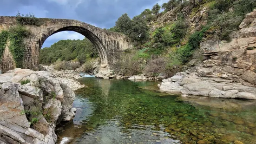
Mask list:
[[[120,18],[118,18],[118,21],[116,21],[116,30],[129,36],[131,33],[130,29],[131,19],[128,14],[125,13]]]

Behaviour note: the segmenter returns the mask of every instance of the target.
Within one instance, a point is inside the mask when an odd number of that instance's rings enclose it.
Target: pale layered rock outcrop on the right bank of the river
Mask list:
[[[203,41],[200,49],[208,59],[186,73],[164,79],[160,89],[216,98],[256,99],[256,9],[246,15],[239,28],[231,34],[230,42]]]

